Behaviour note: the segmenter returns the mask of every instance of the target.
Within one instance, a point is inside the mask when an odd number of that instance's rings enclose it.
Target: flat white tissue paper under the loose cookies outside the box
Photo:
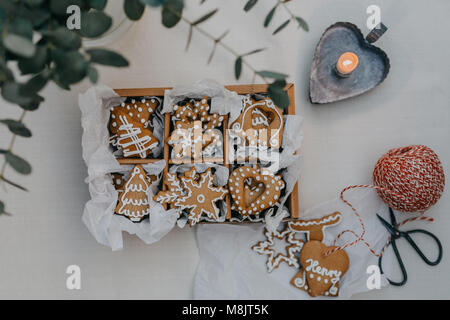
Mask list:
[[[376,214],[389,221],[386,205],[379,199],[376,191],[357,189],[345,194],[363,218],[365,239],[379,252],[386,243],[388,232],[381,225]],[[346,229],[357,234],[361,232],[359,220],[353,211],[340,199],[320,204],[304,212],[304,219],[320,218],[339,211],[343,215],[341,223],[327,228],[323,243],[332,245],[336,236]],[[362,243],[346,250],[350,265],[340,281],[338,298],[311,298],[306,292],[296,289],[289,283],[298,272],[295,267],[281,263],[278,269],[267,272],[267,256],[259,255],[251,247],[265,240],[264,226],[257,225],[200,225],[197,228],[197,243],[200,262],[194,282],[195,299],[347,299],[354,294],[369,291],[367,268],[378,265],[378,258],[370,253]],[[344,245],[354,240],[347,233],[338,240]],[[218,250],[220,248],[220,250]],[[283,251],[283,254],[285,252]],[[383,270],[391,274],[394,264],[393,255],[383,257]],[[381,276],[381,287],[387,285]]]

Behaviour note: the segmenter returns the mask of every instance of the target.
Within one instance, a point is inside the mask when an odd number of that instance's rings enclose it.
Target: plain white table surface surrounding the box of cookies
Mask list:
[[[337,197],[350,184],[370,183],[373,166],[388,149],[425,144],[440,156],[445,172],[450,168],[450,28],[448,0],[379,0],[382,20],[389,31],[377,42],[391,59],[387,80],[363,96],[326,106],[308,99],[309,68],[322,32],[336,21],[351,21],[363,33],[366,0],[292,1],[292,11],[305,18],[310,32],[290,25],[276,36],[271,30],[287,17],[277,12],[270,30],[262,27],[275,0],[260,1],[249,13],[245,1],[187,1],[185,14],[198,18],[219,7],[219,13],[203,27],[219,36],[230,29],[226,43],[245,53],[266,47],[249,61],[259,69],[291,75],[296,85],[297,113],[304,117],[304,165],[300,183],[300,207],[304,211]],[[222,49],[206,65],[212,43],[194,33],[184,51],[187,26],[166,29],[159,12],[147,10],[141,21],[110,47],[131,62],[127,69],[100,68],[100,81],[113,88],[139,88],[190,84],[213,78],[236,83],[234,57]],[[243,70],[239,83],[251,82]],[[86,167],[81,159],[81,125],[77,96],[90,83],[85,81],[63,92],[54,85],[44,91],[46,102],[29,113],[25,123],[33,138],[18,138],[14,151],[33,165],[31,176],[11,169],[7,175],[29,188],[24,193],[2,189],[12,217],[0,217],[0,298],[191,298],[198,262],[195,229],[174,229],[160,242],[145,245],[124,235],[124,250],[111,252],[98,244],[81,222],[89,199],[84,183]],[[2,117],[17,118],[19,109],[2,103]],[[10,135],[0,126],[0,143]],[[410,274],[401,288],[389,287],[355,298],[450,298],[450,197],[446,190],[430,211],[437,223],[421,225],[436,233],[444,246],[439,266],[430,268],[413,250],[402,251]],[[68,265],[82,270],[82,289],[66,289]]]

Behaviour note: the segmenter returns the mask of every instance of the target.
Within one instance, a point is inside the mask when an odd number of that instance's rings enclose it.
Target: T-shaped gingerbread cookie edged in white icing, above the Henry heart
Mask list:
[[[341,220],[342,214],[336,211],[320,219],[291,221],[289,222],[289,228],[297,232],[305,232],[308,241],[322,241],[325,229],[339,224]]]

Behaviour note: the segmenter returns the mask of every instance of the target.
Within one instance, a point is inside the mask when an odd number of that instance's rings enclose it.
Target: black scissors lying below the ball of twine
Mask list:
[[[389,241],[388,246],[392,245],[392,249],[394,250],[395,256],[397,257],[398,264],[400,265],[400,269],[401,269],[401,272],[402,272],[402,275],[403,275],[403,279],[400,282],[394,282],[394,281],[391,281],[389,279],[388,279],[388,281],[389,281],[389,283],[391,285],[402,286],[408,280],[408,274],[406,273],[406,269],[405,269],[405,266],[403,264],[402,258],[400,256],[400,253],[398,252],[396,240],[399,239],[399,238],[405,238],[409,242],[409,244],[414,248],[414,250],[416,250],[417,254],[422,258],[422,260],[426,264],[428,264],[430,266],[435,266],[435,265],[439,264],[439,262],[441,262],[441,259],[442,259],[442,245],[441,245],[441,242],[439,241],[439,239],[434,234],[432,234],[431,232],[428,232],[426,230],[422,230],[422,229],[414,229],[414,230],[409,230],[409,231],[400,231],[400,230],[398,230],[397,220],[395,219],[394,211],[392,210],[392,208],[389,208],[389,214],[391,216],[391,223],[387,222],[385,219],[383,219],[378,214],[377,214],[377,217],[378,217],[378,219],[380,219],[381,223],[384,225],[384,227],[391,234],[391,240]],[[439,248],[439,255],[438,255],[438,257],[437,257],[437,259],[435,261],[430,261],[423,254],[423,252],[419,249],[417,244],[410,237],[410,234],[413,234],[413,233],[425,234],[428,237],[431,237],[436,242],[436,244],[437,244],[437,246]],[[380,258],[378,259],[378,267],[380,268],[381,273],[383,273],[383,269],[381,267],[382,258],[383,258],[383,255],[381,255]]]

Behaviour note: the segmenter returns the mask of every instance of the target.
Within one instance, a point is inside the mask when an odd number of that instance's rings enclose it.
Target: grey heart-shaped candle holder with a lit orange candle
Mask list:
[[[383,82],[389,73],[389,58],[372,43],[386,30],[381,23],[365,39],[358,27],[349,22],[337,22],[325,30],[311,67],[311,102],[348,99]]]

